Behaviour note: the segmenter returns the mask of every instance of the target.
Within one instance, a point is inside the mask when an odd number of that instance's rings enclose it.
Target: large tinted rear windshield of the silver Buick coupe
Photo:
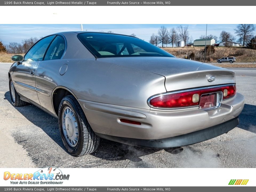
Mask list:
[[[174,57],[141,39],[110,33],[80,33],[78,39],[95,57]]]

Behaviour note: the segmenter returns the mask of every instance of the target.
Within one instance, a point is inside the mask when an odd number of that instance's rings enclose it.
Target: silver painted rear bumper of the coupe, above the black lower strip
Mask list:
[[[223,101],[221,107],[208,111],[201,109],[147,110],[82,99],[78,99],[78,101],[83,106],[83,111],[93,131],[102,135],[103,138],[107,137],[103,135],[108,135],[109,137],[113,136],[112,138],[121,137],[131,140],[161,140],[228,122],[242,112],[245,99],[243,95],[237,93],[233,98]],[[121,118],[140,122],[141,125],[121,122]],[[227,131],[220,132],[219,135]]]

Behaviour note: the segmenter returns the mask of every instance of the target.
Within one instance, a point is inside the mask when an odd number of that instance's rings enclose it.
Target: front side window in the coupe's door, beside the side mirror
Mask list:
[[[55,35],[46,37],[38,41],[33,47],[27,52],[24,57],[24,61],[42,61],[43,56],[47,47],[50,45],[51,41]]]

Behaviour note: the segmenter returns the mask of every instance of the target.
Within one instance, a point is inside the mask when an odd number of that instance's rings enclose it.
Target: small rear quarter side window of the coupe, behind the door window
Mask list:
[[[61,36],[57,36],[51,43],[43,60],[60,59],[65,51],[65,41]]]

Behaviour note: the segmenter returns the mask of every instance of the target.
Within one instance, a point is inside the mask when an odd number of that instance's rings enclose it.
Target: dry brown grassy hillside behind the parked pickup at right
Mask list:
[[[167,47],[162,48],[163,50],[171,53],[172,55],[185,58],[190,57],[192,54],[197,61],[203,61],[204,57],[204,47]],[[253,49],[245,49],[239,47],[214,47],[215,53],[206,56],[206,62],[216,62],[217,59],[222,57],[235,57],[236,62],[256,62],[256,50]],[[191,58],[193,59],[193,58]]]

